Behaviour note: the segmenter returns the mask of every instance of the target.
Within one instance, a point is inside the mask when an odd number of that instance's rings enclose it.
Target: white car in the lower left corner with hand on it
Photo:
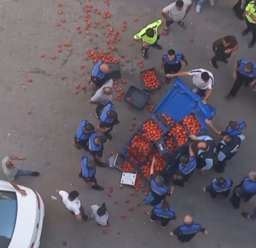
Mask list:
[[[45,205],[36,191],[19,186],[26,197],[0,180],[0,248],[38,248]]]

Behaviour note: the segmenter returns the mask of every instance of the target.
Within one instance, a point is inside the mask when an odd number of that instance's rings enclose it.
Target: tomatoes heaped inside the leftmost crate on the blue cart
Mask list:
[[[150,143],[147,140],[139,134],[135,134],[127,147],[127,155],[136,164],[141,164],[146,161],[150,148]]]

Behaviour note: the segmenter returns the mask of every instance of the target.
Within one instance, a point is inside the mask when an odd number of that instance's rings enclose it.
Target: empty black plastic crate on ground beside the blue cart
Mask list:
[[[147,92],[136,88],[131,85],[126,94],[124,95],[124,101],[132,104],[133,106],[141,109],[145,105],[149,98]]]

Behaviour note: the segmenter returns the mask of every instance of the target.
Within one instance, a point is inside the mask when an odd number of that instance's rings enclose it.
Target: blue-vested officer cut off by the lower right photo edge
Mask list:
[[[240,184],[238,184],[233,191],[233,195],[230,198],[230,202],[234,208],[240,207],[241,198],[245,202],[251,200],[256,195],[256,172],[250,172],[249,176],[244,178]]]

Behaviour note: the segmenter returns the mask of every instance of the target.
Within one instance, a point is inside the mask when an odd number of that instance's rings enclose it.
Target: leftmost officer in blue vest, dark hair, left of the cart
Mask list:
[[[74,146],[78,150],[83,148],[84,150],[89,151],[88,141],[94,130],[94,125],[90,124],[88,120],[82,120],[74,137]]]

